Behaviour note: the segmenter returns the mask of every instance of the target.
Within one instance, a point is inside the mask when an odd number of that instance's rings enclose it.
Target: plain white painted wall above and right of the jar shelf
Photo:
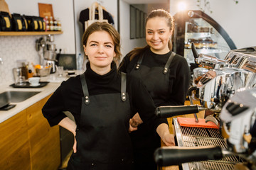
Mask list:
[[[52,4],[53,16],[60,18],[63,34],[55,35],[55,44],[66,53],[75,53],[75,32],[72,0],[6,0],[10,13],[39,16],[38,3]]]

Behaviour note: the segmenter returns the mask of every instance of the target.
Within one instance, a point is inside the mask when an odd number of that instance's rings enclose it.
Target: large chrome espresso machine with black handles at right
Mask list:
[[[156,162],[182,164],[184,170],[256,169],[256,47],[231,50],[224,60],[198,55],[193,44],[192,50],[196,64],[208,69],[196,83],[193,77],[193,99],[201,106],[161,106],[156,115],[172,117],[178,108],[183,114],[206,110],[206,122],[220,129],[181,127],[174,118],[178,147],[156,150]]]

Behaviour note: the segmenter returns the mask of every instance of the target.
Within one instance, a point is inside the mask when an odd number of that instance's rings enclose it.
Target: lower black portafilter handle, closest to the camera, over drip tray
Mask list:
[[[154,152],[154,160],[159,166],[221,158],[223,158],[223,152],[220,147],[161,147]]]

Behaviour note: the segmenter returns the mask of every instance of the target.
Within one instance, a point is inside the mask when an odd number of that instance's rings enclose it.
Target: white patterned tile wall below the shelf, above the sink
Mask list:
[[[2,84],[14,83],[12,69],[17,67],[16,60],[39,64],[36,39],[40,37],[41,35],[0,36],[0,57],[4,62],[0,64],[0,88]]]

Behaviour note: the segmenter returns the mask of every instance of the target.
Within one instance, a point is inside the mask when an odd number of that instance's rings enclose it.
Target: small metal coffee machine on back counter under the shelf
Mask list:
[[[55,73],[55,64],[58,60],[56,60],[57,53],[54,36],[47,35],[46,38],[42,37],[36,40],[36,51],[40,56],[40,64],[51,67],[50,73]]]

